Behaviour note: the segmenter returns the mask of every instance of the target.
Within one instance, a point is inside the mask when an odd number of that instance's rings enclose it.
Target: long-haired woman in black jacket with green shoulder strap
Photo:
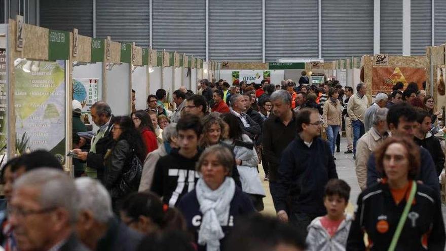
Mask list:
[[[445,232],[438,191],[418,184],[419,148],[405,137],[387,138],[375,151],[377,169],[384,173],[380,183],[368,187],[358,197],[355,220],[350,228],[347,250],[443,250]],[[412,191],[414,190],[414,191]],[[415,194],[395,238],[411,193]]]

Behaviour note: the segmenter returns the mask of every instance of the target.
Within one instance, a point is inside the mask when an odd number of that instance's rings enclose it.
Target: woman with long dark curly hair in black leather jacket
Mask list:
[[[128,116],[114,118],[112,133],[113,144],[108,146],[104,157],[103,183],[112,197],[114,211],[118,212],[119,201],[131,192],[138,191],[139,180],[136,181],[138,184],[127,184],[128,179],[123,174],[132,169],[137,160],[144,162],[145,145]]]

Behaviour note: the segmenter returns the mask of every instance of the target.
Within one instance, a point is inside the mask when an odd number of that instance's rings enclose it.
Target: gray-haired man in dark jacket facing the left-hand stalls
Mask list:
[[[99,126],[96,135],[91,139],[90,152],[82,152],[81,149],[73,149],[73,153],[78,158],[87,161],[85,174],[92,178],[102,180],[104,176],[104,156],[107,153],[107,147],[113,141],[112,136],[112,109],[104,101],[97,101],[91,106],[91,118]]]

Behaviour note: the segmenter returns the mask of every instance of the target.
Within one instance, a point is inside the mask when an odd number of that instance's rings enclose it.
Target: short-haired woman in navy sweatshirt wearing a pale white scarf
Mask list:
[[[249,197],[231,177],[234,162],[228,148],[206,148],[197,164],[201,173],[197,186],[178,204],[198,250],[223,250],[220,243],[237,224],[237,217],[255,212]]]

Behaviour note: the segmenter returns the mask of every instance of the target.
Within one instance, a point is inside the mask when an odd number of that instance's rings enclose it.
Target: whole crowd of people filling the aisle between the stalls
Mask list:
[[[46,151],[2,169],[6,250],[443,250],[434,99],[416,83],[391,93],[338,81],[274,85],[202,79],[114,116],[98,101],[87,131],[73,101],[75,180]],[[82,108],[82,107],[81,107]],[[345,129],[362,190],[334,153]],[[350,156],[350,155],[349,155]],[[267,196],[277,217],[262,216]],[[366,239],[366,241],[364,241]]]

